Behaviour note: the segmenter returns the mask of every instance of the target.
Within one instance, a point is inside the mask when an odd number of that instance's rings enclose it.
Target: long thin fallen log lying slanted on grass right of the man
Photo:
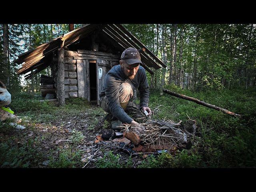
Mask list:
[[[202,105],[202,106],[206,106],[206,107],[208,107],[208,108],[215,109],[215,110],[217,110],[217,111],[221,111],[221,112],[223,112],[223,113],[225,113],[225,114],[228,114],[228,115],[232,115],[232,116],[236,116],[236,117],[241,117],[241,115],[239,115],[239,114],[235,114],[234,112],[231,112],[231,111],[226,110],[226,109],[224,109],[224,108],[220,108],[220,107],[217,107],[217,106],[215,106],[215,105],[208,104],[208,103],[203,102],[203,101],[200,101],[200,100],[198,100],[198,99],[196,99],[196,98],[189,97],[189,96],[182,95],[182,94],[178,94],[178,93],[174,93],[174,92],[171,92],[170,90],[167,90],[167,89],[162,89],[162,90],[163,90],[163,92],[168,93],[168,94],[170,94],[170,95],[172,95],[172,96],[175,96],[175,97],[178,97],[178,98],[182,98],[182,99],[186,99],[186,100],[189,100],[189,101],[196,102],[197,104],[200,104],[200,105]]]

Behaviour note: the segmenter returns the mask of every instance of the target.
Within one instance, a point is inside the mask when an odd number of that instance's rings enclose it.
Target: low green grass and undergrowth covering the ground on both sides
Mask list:
[[[236,118],[216,110],[200,106],[194,102],[176,98],[168,94],[160,94],[159,90],[150,91],[151,108],[160,106],[154,118],[172,119],[175,122],[186,122],[188,116],[196,120],[198,126],[196,137],[191,146],[179,149],[175,154],[162,153],[148,155],[143,159],[124,157],[114,152],[103,152],[94,166],[98,168],[233,168],[255,167],[256,164],[256,90],[220,90],[192,92],[175,86],[166,86],[168,90],[198,98],[204,102],[226,108],[243,118]],[[36,135],[42,128],[52,127],[52,122],[64,124],[62,119],[87,114],[86,131],[94,131],[106,113],[97,106],[81,98],[70,98],[66,105],[58,107],[55,102],[39,102],[40,96],[16,94],[12,96],[11,109],[18,114],[26,132],[18,132],[6,122],[0,122],[0,167],[38,167],[48,161],[48,167],[73,168],[82,167],[80,146],[85,140],[84,134],[72,128],[68,133],[69,141],[63,146],[56,146],[48,151],[40,149],[44,142],[50,142],[54,136],[64,131],[62,127],[53,133]],[[136,100],[139,103],[139,100]],[[79,118],[78,118],[79,120]],[[26,122],[28,121],[28,122]],[[62,122],[62,124],[61,124]],[[5,124],[4,124],[5,123]],[[54,124],[55,126],[55,124]],[[108,121],[102,127],[108,129]],[[28,137],[30,132],[34,135]],[[95,134],[94,134],[95,135]],[[93,138],[94,139],[94,138]]]

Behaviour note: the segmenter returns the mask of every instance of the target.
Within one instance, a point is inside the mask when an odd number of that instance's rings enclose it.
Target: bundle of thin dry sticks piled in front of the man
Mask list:
[[[139,125],[124,124],[124,136],[134,144],[142,142],[144,145],[153,145],[155,149],[168,150],[173,146],[184,146],[183,143],[187,142],[187,134],[179,128],[180,123],[150,119]]]

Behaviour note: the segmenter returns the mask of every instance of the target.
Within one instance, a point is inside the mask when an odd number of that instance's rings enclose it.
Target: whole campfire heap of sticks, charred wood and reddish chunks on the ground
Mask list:
[[[154,154],[162,150],[175,153],[178,148],[186,147],[190,138],[193,139],[195,136],[196,121],[189,117],[189,120],[184,124],[182,121],[159,120],[155,118],[155,114],[159,110],[160,106],[152,110],[152,118],[146,118],[145,116],[141,118],[138,111],[139,118],[136,121],[141,120],[140,124],[123,124],[123,126],[118,126],[118,131],[107,130],[97,136],[95,143],[100,142],[107,148],[124,150],[130,155]]]

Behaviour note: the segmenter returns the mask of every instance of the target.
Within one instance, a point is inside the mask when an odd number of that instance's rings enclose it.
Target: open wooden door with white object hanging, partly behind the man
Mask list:
[[[111,69],[112,63],[111,61],[108,60],[103,60],[103,59],[97,59],[97,70],[96,70],[96,76],[97,76],[97,104],[99,105],[99,94],[102,90],[104,81],[105,81],[105,76],[107,72]],[[100,73],[102,75],[100,76]]]

